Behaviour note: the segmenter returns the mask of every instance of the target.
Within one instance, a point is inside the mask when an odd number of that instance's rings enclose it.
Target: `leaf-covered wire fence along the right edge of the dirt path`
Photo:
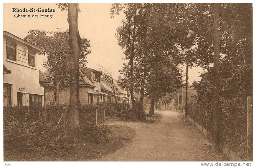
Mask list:
[[[212,103],[188,104],[188,116],[212,133]],[[247,102],[245,98],[222,98],[219,102],[220,140],[243,160],[252,160],[247,153]],[[252,140],[248,147],[252,150]]]

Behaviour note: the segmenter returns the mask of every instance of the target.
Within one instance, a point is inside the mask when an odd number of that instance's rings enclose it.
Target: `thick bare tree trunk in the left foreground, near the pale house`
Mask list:
[[[70,100],[67,121],[67,142],[79,141],[78,113],[79,113],[79,56],[81,38],[78,31],[78,4],[68,3],[68,24],[70,36]]]

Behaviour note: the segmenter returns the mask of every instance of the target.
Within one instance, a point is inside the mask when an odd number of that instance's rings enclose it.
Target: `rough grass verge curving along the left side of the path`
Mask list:
[[[103,142],[95,143],[87,136],[80,136],[77,146],[65,152],[56,154],[49,151],[4,151],[4,161],[90,161],[122,148],[135,136],[135,131],[126,126],[112,125],[107,128],[108,137]]]

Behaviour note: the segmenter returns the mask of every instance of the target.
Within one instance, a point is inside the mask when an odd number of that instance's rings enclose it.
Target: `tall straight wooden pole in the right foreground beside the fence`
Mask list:
[[[214,95],[212,113],[212,151],[219,151],[219,3],[214,3],[214,56],[213,56],[213,75],[214,75]]]

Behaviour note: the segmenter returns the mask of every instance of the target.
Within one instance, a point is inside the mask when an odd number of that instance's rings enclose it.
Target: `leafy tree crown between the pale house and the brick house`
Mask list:
[[[69,86],[70,77],[70,59],[69,59],[69,31],[51,31],[45,30],[29,30],[24,40],[39,46],[43,49],[39,54],[47,56],[44,61],[43,67],[48,69],[50,81],[54,81],[58,77],[61,86]],[[87,63],[86,56],[91,53],[90,41],[85,37],[81,39],[81,52],[79,57],[80,65],[85,66]],[[82,74],[82,73],[81,73]]]

